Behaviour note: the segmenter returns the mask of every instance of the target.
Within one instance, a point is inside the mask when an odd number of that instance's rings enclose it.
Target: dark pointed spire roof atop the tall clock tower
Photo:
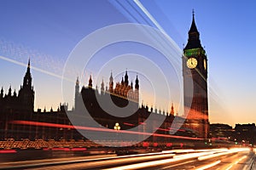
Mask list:
[[[200,33],[195,26],[195,11],[192,11],[192,23],[189,29],[189,40],[184,49],[202,48],[200,41]]]

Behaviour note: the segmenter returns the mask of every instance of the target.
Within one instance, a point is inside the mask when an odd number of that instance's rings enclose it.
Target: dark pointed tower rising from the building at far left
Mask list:
[[[26,67],[25,77],[23,78],[23,86],[20,88],[18,94],[19,107],[24,113],[32,113],[34,111],[34,95],[35,92],[32,87],[32,75],[30,72],[30,59]]]

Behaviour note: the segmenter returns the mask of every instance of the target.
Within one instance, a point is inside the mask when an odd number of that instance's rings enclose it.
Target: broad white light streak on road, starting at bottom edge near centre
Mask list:
[[[210,153],[212,153],[212,152],[210,152]],[[138,169],[138,168],[155,167],[155,166],[160,166],[160,165],[175,162],[175,161],[184,161],[187,159],[196,158],[196,157],[204,156],[207,154],[209,154],[209,153],[202,152],[202,153],[185,154],[183,156],[173,156],[173,158],[171,158],[171,159],[158,160],[158,161],[146,161],[146,162],[142,162],[142,163],[135,163],[135,164],[121,166],[121,167],[108,168],[106,170]]]

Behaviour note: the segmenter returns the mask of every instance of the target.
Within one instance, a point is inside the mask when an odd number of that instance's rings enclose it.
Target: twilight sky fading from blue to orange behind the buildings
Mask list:
[[[31,58],[33,86],[36,91],[35,110],[38,108],[57,108],[60,102],[73,106],[73,99],[62,97],[62,74],[67,65],[68,56],[73,48],[90,33],[105,26],[122,23],[139,23],[154,28],[161,28],[182,49],[186,44],[192,20],[192,8],[195,9],[195,23],[201,33],[201,43],[205,46],[208,57],[208,89],[210,122],[236,123],[256,122],[256,53],[253,52],[256,39],[256,3],[234,1],[169,1],[141,0],[145,10],[133,1],[93,1],[93,0],[1,0],[0,1],[0,86],[7,93],[9,85],[20,89],[26,71],[27,59]],[[158,25],[156,25],[156,23]],[[150,37],[150,35],[149,35]],[[95,43],[95,46],[97,44]],[[173,46],[172,46],[173,47]],[[176,46],[175,46],[176,47]],[[153,105],[161,110],[170,111],[170,102],[182,114],[180,100],[182,95],[181,72],[175,72],[176,65],[166,64],[159,51],[137,42],[121,42],[109,45],[98,51],[84,71],[74,71],[68,77],[71,83],[80,77],[81,85],[87,85],[90,74],[100,87],[102,78],[108,82],[110,71],[119,81],[123,72],[131,68],[124,60],[117,60],[116,68],[107,65],[111,56],[122,54],[139,54],[147,56],[154,64],[160,66],[167,75],[171,91],[171,101],[165,96],[163,85],[160,103],[152,100],[151,80],[143,72],[131,71],[134,81],[139,74],[141,81],[141,102]],[[181,57],[181,56],[180,56]],[[123,61],[123,62],[122,62]],[[136,61],[136,60],[135,60]],[[144,65],[139,60],[137,67]],[[25,64],[25,65],[24,65]],[[97,75],[102,65],[106,71]],[[151,67],[145,66],[150,73]],[[181,71],[181,65],[180,65]],[[176,70],[177,71],[177,70]],[[157,76],[156,76],[157,77]],[[171,77],[169,79],[169,77]],[[116,82],[115,81],[115,82]],[[73,96],[74,89],[67,96]],[[168,90],[167,90],[168,91]],[[66,93],[66,92],[65,92]]]

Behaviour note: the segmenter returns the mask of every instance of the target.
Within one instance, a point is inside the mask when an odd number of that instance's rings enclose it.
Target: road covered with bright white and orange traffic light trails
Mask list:
[[[165,150],[116,156],[80,156],[39,161],[4,162],[3,169],[218,169],[241,170],[253,167],[255,152],[248,148],[210,150]]]

